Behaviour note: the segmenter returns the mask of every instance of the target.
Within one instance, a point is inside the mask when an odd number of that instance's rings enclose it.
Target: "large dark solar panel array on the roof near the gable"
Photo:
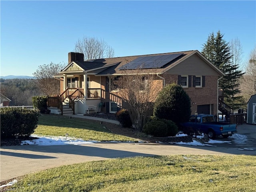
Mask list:
[[[161,68],[162,66],[173,61],[181,55],[182,53],[156,56],[142,56],[132,60],[131,62],[128,62],[124,66],[120,67],[119,70]]]

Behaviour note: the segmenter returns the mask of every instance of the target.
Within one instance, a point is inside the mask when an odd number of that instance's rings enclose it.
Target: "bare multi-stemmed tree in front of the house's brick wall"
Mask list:
[[[153,114],[154,101],[158,92],[162,89],[156,80],[156,75],[124,74],[118,79],[113,79],[111,87],[116,90],[117,95],[122,98],[122,107],[130,114],[136,131],[141,132],[144,124],[149,121]]]

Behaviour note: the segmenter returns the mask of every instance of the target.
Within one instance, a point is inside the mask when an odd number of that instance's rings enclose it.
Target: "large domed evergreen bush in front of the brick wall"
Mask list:
[[[178,125],[188,121],[190,114],[190,98],[181,86],[169,84],[159,92],[154,104],[154,116],[172,120]]]

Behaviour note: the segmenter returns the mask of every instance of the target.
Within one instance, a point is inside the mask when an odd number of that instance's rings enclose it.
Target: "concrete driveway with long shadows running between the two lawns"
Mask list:
[[[212,146],[182,146],[154,143],[95,143],[61,146],[6,146],[0,152],[1,181],[24,174],[86,161],[132,156],[171,154],[245,154],[256,155],[256,126],[240,125],[238,134],[247,136],[244,143],[214,144]],[[224,138],[219,138],[224,139]],[[227,138],[225,140],[231,140]],[[249,149],[250,150],[247,150]],[[243,150],[241,150],[243,149]],[[251,150],[253,149],[253,150]]]

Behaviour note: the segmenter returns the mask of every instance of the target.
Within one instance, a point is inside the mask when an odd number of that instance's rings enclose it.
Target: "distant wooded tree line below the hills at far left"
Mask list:
[[[32,106],[32,97],[40,96],[35,79],[0,78],[1,94],[12,100],[10,106]]]

